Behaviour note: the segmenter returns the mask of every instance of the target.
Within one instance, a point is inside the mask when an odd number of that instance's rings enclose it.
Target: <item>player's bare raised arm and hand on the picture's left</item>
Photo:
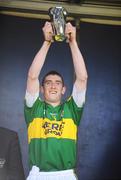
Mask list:
[[[35,93],[39,92],[39,75],[52,42],[53,31],[51,23],[46,22],[42,30],[44,33],[45,41],[43,42],[42,47],[36,54],[29,68],[27,77],[27,92],[31,95],[34,95]]]

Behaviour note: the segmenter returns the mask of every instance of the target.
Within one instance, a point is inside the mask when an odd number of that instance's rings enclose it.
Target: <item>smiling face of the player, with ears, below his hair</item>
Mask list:
[[[60,76],[48,75],[41,88],[45,101],[52,105],[59,105],[61,97],[65,93],[65,86]]]

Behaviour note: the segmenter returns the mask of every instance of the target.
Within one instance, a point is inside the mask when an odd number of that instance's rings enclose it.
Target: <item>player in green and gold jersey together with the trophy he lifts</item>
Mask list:
[[[24,106],[30,165],[27,180],[77,180],[77,135],[85,104],[87,71],[76,41],[76,27],[65,22],[66,10],[50,8],[49,15],[51,22],[46,21],[42,27],[44,40],[27,73]],[[64,78],[56,70],[46,72],[39,81],[53,40],[68,41],[64,48],[70,48],[73,60],[75,81],[70,97],[66,99],[63,99]],[[58,56],[61,53],[58,52]],[[51,60],[50,57],[52,64]],[[55,63],[58,65],[57,59]],[[68,71],[66,73],[70,75]]]

